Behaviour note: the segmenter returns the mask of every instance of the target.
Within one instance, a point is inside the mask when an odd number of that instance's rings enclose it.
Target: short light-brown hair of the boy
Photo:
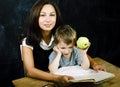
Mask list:
[[[54,42],[55,45],[59,43],[59,41],[63,41],[67,45],[75,44],[76,42],[76,31],[70,25],[61,25],[57,28],[55,32]]]

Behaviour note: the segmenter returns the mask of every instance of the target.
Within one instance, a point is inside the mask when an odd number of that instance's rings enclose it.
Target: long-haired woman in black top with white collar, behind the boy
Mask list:
[[[59,76],[47,72],[48,56],[54,46],[53,35],[55,29],[61,25],[61,14],[55,3],[49,0],[38,0],[31,8],[26,23],[27,31],[22,41],[22,58],[27,76],[62,83],[73,79],[70,76]],[[93,67],[95,62],[92,58],[90,61]]]

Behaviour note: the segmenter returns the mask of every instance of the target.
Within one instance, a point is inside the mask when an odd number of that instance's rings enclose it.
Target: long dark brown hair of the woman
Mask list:
[[[28,45],[31,45],[31,46],[36,45],[36,44],[38,45],[43,37],[41,33],[41,29],[38,24],[38,19],[39,19],[41,9],[43,8],[45,4],[51,4],[55,8],[56,15],[57,15],[56,24],[55,24],[55,27],[52,29],[51,33],[54,34],[56,28],[61,25],[61,13],[56,3],[50,0],[38,0],[32,6],[29,16],[27,18],[25,27],[24,27],[25,29],[24,34],[27,37],[26,43]]]

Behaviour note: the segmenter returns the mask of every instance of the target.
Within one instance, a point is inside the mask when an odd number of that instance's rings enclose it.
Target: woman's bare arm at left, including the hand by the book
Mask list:
[[[62,82],[62,83],[69,82],[69,79],[73,79],[73,77],[71,76],[54,75],[35,68],[34,60],[33,60],[33,51],[29,47],[22,46],[22,58],[23,58],[26,74],[29,77],[42,79],[46,81]]]

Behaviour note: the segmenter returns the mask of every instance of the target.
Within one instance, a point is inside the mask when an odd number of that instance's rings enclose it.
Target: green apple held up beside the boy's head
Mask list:
[[[89,39],[87,37],[79,37],[77,40],[77,47],[81,49],[86,49],[87,47],[90,46]]]

